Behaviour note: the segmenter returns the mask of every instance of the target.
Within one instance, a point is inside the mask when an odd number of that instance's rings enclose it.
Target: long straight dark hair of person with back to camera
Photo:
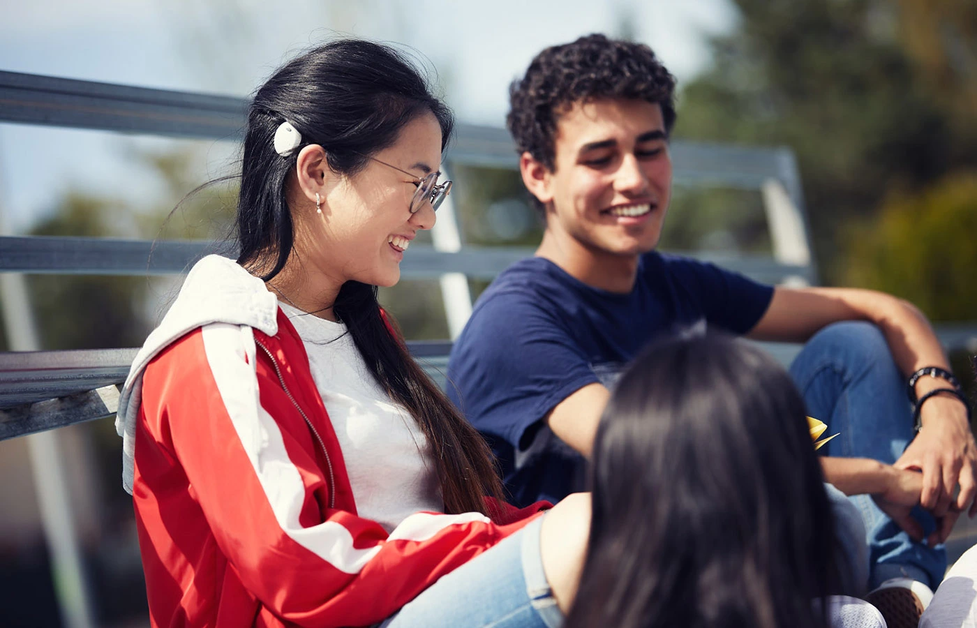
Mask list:
[[[726,336],[654,344],[594,444],[590,545],[567,628],[813,628],[836,592],[804,402]]]

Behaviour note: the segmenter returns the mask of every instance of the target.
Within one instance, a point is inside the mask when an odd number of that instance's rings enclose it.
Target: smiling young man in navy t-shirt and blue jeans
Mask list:
[[[826,478],[873,498],[859,503],[872,583],[905,575],[935,586],[946,555],[927,546],[974,514],[977,454],[929,323],[885,294],[770,287],[658,253],[673,92],[651,49],[603,35],[542,51],[513,83],[508,126],[545,232],[535,257],[476,304],[451,354],[449,394],[490,440],[517,503],[557,501],[583,487],[616,373],[657,334],[708,326],[806,342],[791,374],[810,412],[841,433]],[[925,397],[913,440],[907,381],[924,367],[937,375],[912,378],[911,395]],[[949,391],[927,395],[937,389]],[[916,503],[927,512],[911,515]]]

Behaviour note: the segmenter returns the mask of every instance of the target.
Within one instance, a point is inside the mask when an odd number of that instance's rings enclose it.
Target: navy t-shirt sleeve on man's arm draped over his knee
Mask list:
[[[743,335],[770,307],[773,286],[708,262],[679,257],[664,258],[664,262],[678,289],[698,303],[710,326]]]

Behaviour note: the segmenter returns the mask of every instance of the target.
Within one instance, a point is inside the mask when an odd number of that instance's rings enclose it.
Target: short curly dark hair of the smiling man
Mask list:
[[[675,124],[675,77],[645,44],[594,33],[536,55],[526,76],[509,86],[506,125],[520,154],[550,170],[560,113],[578,101],[624,98],[661,106],[665,132]]]

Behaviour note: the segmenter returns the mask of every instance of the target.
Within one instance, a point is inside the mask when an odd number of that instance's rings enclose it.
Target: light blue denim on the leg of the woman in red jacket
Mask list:
[[[559,628],[556,606],[539,554],[542,517],[408,602],[381,628]]]

